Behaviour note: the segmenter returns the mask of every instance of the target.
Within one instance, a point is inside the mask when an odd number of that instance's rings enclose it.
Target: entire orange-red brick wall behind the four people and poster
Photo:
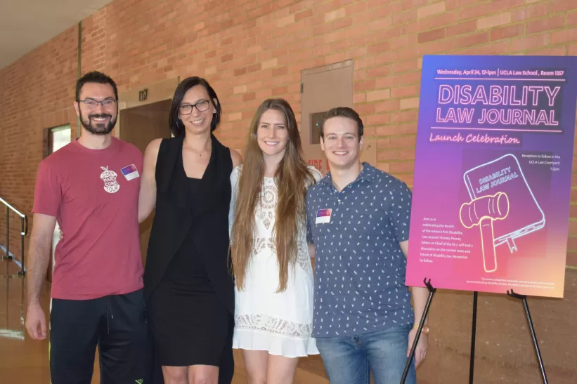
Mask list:
[[[441,53],[577,55],[577,1],[116,0],[82,23],[82,72],[103,70],[121,90],[177,76],[209,79],[225,111],[223,124],[216,132],[231,147],[243,147],[252,114],[264,98],[284,97],[298,114],[302,69],[352,58],[354,104],[365,121],[366,134],[378,138],[377,166],[409,185],[415,157],[421,58]],[[75,126],[72,102],[76,55],[77,27],[71,27],[0,72],[0,113],[4,117],[0,121],[4,139],[0,196],[27,213],[32,208],[34,177],[42,154],[42,131],[58,124]],[[568,263],[577,265],[577,181],[573,185]],[[2,225],[0,220],[0,235],[4,233]],[[15,241],[18,239],[13,244]],[[568,270],[568,298],[554,304],[562,308],[559,317],[569,313],[567,300],[576,300],[575,272]],[[432,357],[427,365],[430,372],[434,364],[449,371],[460,369],[456,364],[468,356],[470,300],[463,297],[457,293],[435,299],[439,305],[436,313],[442,316],[441,307],[455,312],[460,323],[451,323],[450,329],[444,327],[443,331],[459,341],[432,333],[437,345],[434,353],[444,355],[442,359]],[[491,301],[495,298],[483,300],[480,302],[492,310],[504,303],[495,307]],[[521,313],[512,316],[517,316],[517,323],[507,324],[523,326]],[[545,317],[541,320],[540,325],[546,326]],[[463,335],[455,333],[459,324]],[[566,327],[569,329],[570,324]],[[545,347],[549,357],[561,351],[577,352],[576,336],[559,333],[562,329],[550,328],[548,337],[552,342]],[[522,338],[525,342],[529,338],[524,333],[519,336],[516,328],[510,331],[512,340]],[[495,350],[487,352],[483,364],[493,375],[491,380],[514,377],[507,369],[537,378],[533,375],[530,343],[519,341],[518,345],[524,345],[524,352],[519,352],[525,356],[522,363],[509,356],[512,349],[501,351],[493,345]],[[572,350],[568,352],[568,348]],[[509,357],[496,362],[498,354]],[[568,372],[577,374],[574,364],[561,355],[551,364],[556,364],[553,368],[559,372],[558,382],[565,383],[567,376],[563,375]],[[434,377],[442,376],[439,373]],[[448,381],[444,382],[450,382],[450,376],[445,377]],[[424,382],[438,381],[425,378]]]

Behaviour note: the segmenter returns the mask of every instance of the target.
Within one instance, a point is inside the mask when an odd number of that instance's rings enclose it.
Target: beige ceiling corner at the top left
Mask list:
[[[112,0],[0,0],[0,69]]]

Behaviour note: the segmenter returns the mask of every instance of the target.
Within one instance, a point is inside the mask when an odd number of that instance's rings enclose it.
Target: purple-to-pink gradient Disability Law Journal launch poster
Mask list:
[[[563,297],[577,58],[424,56],[408,286]]]

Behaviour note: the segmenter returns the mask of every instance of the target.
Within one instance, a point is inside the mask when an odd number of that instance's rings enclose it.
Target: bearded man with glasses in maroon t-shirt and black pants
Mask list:
[[[143,155],[112,136],[114,81],[90,72],[77,81],[82,135],[41,161],[34,190],[26,329],[46,338],[39,304],[58,221],[50,313],[52,384],[91,383],[96,345],[103,383],[142,383],[147,324],[138,233]]]

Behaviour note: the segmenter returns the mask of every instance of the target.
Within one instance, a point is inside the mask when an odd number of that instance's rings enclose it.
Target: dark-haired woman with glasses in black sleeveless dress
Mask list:
[[[139,220],[156,204],[144,285],[155,357],[167,384],[231,383],[234,288],[228,258],[230,175],[242,161],[213,135],[216,93],[190,77],[176,88],[174,138],[145,151]]]

